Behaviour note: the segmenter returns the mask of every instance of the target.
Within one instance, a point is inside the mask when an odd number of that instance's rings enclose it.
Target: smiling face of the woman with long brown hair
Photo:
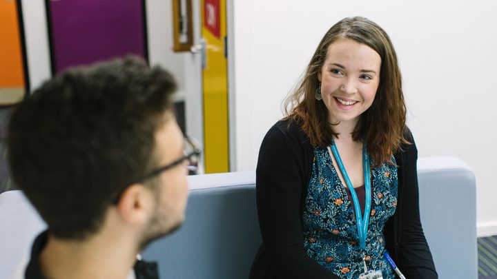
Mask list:
[[[345,38],[329,45],[318,79],[330,123],[355,127],[360,115],[373,104],[380,68],[380,54],[367,45]]]

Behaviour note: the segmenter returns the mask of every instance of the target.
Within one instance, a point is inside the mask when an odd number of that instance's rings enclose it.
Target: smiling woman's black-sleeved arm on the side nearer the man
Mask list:
[[[262,241],[277,278],[338,279],[304,250],[302,185],[309,178],[305,166],[308,155],[300,141],[283,125],[273,126],[262,141],[256,178]]]

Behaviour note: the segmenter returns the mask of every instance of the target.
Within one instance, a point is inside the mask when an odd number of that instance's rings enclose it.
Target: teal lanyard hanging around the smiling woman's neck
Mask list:
[[[366,237],[367,230],[369,225],[369,214],[371,212],[371,168],[369,167],[369,156],[367,154],[366,145],[362,147],[362,163],[364,169],[364,186],[366,187],[366,204],[364,205],[364,216],[361,218],[360,204],[359,198],[357,194],[355,194],[355,189],[352,186],[351,180],[345,167],[342,163],[342,158],[340,158],[340,154],[338,154],[338,149],[335,143],[331,143],[331,152],[333,152],[333,156],[335,156],[335,160],[338,163],[338,167],[340,167],[340,172],[342,172],[342,176],[344,177],[345,183],[349,186],[351,191],[352,200],[355,207],[355,220],[358,225],[358,236],[359,243],[361,249],[366,249]]]

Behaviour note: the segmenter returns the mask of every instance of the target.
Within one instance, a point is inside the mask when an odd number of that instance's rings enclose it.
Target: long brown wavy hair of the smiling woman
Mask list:
[[[391,155],[398,151],[401,143],[408,143],[403,136],[406,106],[402,93],[402,77],[389,36],[369,19],[348,17],[324,34],[305,74],[284,101],[284,119],[291,118],[299,123],[314,146],[327,146],[334,136],[338,136],[333,131],[333,125],[336,124],[328,122],[327,107],[322,101],[316,100],[314,94],[319,86],[318,73],[327,57],[329,45],[340,38],[363,43],[380,54],[378,91],[371,107],[360,116],[352,137],[355,141],[367,143],[367,151],[376,166],[391,163]]]

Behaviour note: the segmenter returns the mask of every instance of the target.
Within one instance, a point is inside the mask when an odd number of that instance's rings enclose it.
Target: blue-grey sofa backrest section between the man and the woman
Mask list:
[[[248,278],[262,240],[255,205],[255,173],[192,176],[186,220],[143,252],[161,278]]]

